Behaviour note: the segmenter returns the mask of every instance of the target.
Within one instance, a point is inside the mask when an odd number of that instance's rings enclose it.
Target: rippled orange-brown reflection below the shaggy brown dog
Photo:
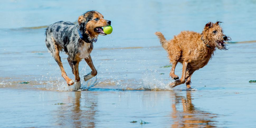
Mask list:
[[[180,104],[182,110],[179,109]],[[192,103],[191,91],[187,91],[186,97],[174,93],[172,110],[172,127],[215,127],[212,118],[215,118],[216,114],[198,110]]]

